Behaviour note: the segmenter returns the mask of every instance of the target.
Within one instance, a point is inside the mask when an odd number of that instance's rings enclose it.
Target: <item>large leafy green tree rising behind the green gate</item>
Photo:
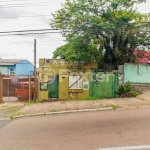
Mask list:
[[[65,57],[116,67],[134,61],[135,48],[150,43],[150,14],[135,7],[141,2],[145,0],[67,0],[51,24],[66,37]]]

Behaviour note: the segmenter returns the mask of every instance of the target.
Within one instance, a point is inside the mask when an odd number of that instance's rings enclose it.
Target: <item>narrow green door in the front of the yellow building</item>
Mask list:
[[[58,98],[58,79],[57,75],[54,81],[48,85],[48,98]]]

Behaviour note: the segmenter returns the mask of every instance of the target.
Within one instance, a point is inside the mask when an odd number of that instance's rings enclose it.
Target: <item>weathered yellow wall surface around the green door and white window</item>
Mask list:
[[[97,68],[97,64],[88,62],[69,62],[60,59],[40,59],[39,80],[47,82],[53,75],[59,75],[59,99],[81,99],[89,96],[90,68]],[[44,73],[44,76],[42,74]],[[69,89],[69,75],[82,76],[82,83],[88,82],[88,89]],[[82,85],[83,86],[83,85]],[[48,91],[39,91],[39,98],[47,99]]]

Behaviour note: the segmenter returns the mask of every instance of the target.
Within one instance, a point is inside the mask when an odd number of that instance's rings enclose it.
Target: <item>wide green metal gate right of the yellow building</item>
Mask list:
[[[118,73],[91,72],[90,96],[115,98],[118,87]]]

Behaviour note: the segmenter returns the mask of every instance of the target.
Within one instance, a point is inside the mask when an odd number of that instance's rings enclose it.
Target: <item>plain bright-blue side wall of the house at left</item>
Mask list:
[[[28,60],[24,60],[16,64],[16,75],[20,76],[33,75],[33,71],[34,66]]]

